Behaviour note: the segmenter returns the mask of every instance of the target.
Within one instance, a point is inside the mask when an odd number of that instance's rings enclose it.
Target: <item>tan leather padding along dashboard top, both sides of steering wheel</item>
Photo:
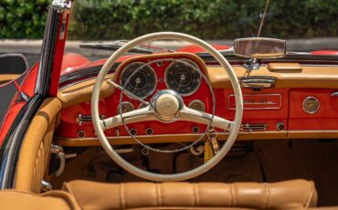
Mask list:
[[[284,64],[279,64],[284,65]],[[275,64],[276,66],[276,64]],[[238,78],[246,74],[246,69],[241,66],[233,66]],[[286,68],[286,67],[285,67]],[[232,89],[230,79],[226,71],[219,66],[208,66],[206,77],[213,88]],[[277,79],[275,88],[312,88],[312,89],[336,89],[338,88],[338,68],[331,66],[305,66],[301,65],[300,71],[270,71],[267,65],[262,65],[257,70],[252,70],[250,76],[268,76]],[[111,79],[107,77],[107,79]],[[78,84],[58,91],[58,99],[62,102],[62,108],[74,104],[90,101],[91,91],[95,79],[81,81]],[[102,83],[100,98],[111,96],[115,88],[108,82]]]

